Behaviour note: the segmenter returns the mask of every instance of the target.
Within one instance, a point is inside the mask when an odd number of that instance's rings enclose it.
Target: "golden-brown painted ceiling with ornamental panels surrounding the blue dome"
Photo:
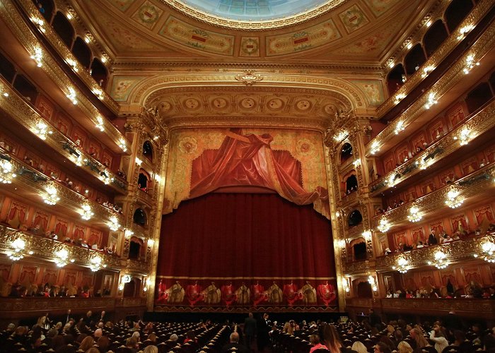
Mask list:
[[[323,11],[310,18],[305,17],[305,12],[289,19],[285,26],[284,20],[272,20],[261,27],[258,27],[260,23],[252,23],[251,28],[231,28],[220,17],[192,16],[184,9],[185,2],[188,6],[202,7],[216,16],[223,13],[231,16],[229,11],[236,6],[239,10],[235,11],[241,12],[240,8],[243,8],[244,14],[249,12],[248,8],[260,11],[262,4],[267,4],[274,16],[289,16],[310,10],[310,6],[317,9],[330,6],[331,11]],[[80,9],[78,13],[86,19],[86,23],[91,23],[99,42],[117,61],[127,58],[202,62],[284,60],[299,64],[308,61],[322,64],[342,61],[347,64],[381,64],[380,61],[405,40],[404,29],[416,25],[425,14],[424,8],[433,2],[74,0]],[[296,22],[290,22],[294,18]]]

